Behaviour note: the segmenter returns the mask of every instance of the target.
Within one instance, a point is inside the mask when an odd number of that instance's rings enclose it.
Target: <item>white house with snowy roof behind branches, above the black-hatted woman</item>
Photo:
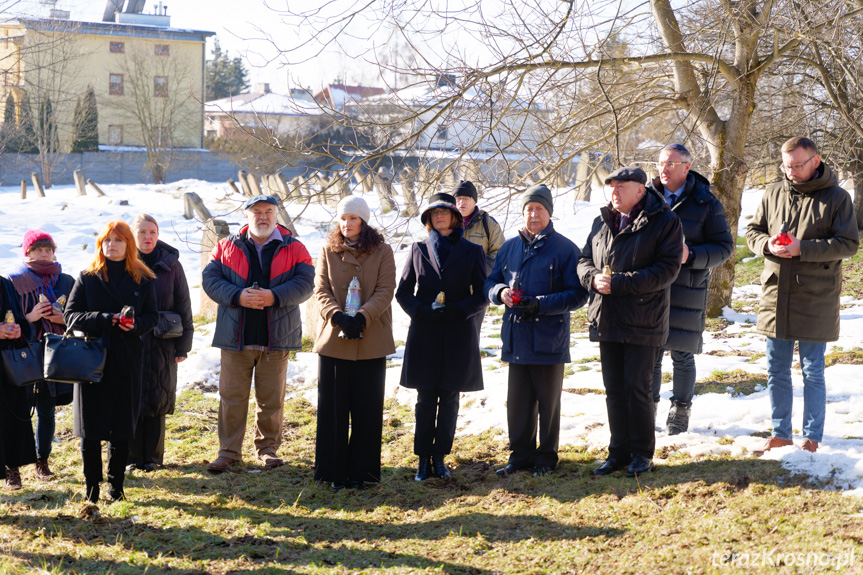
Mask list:
[[[543,103],[489,94],[460,92],[456,78],[441,74],[387,94],[348,102],[345,115],[378,125],[398,126],[390,139],[419,150],[508,152],[533,150],[545,139],[552,110]],[[442,112],[455,99],[449,110]],[[437,117],[436,117],[437,116]],[[489,130],[490,126],[494,126]]]

